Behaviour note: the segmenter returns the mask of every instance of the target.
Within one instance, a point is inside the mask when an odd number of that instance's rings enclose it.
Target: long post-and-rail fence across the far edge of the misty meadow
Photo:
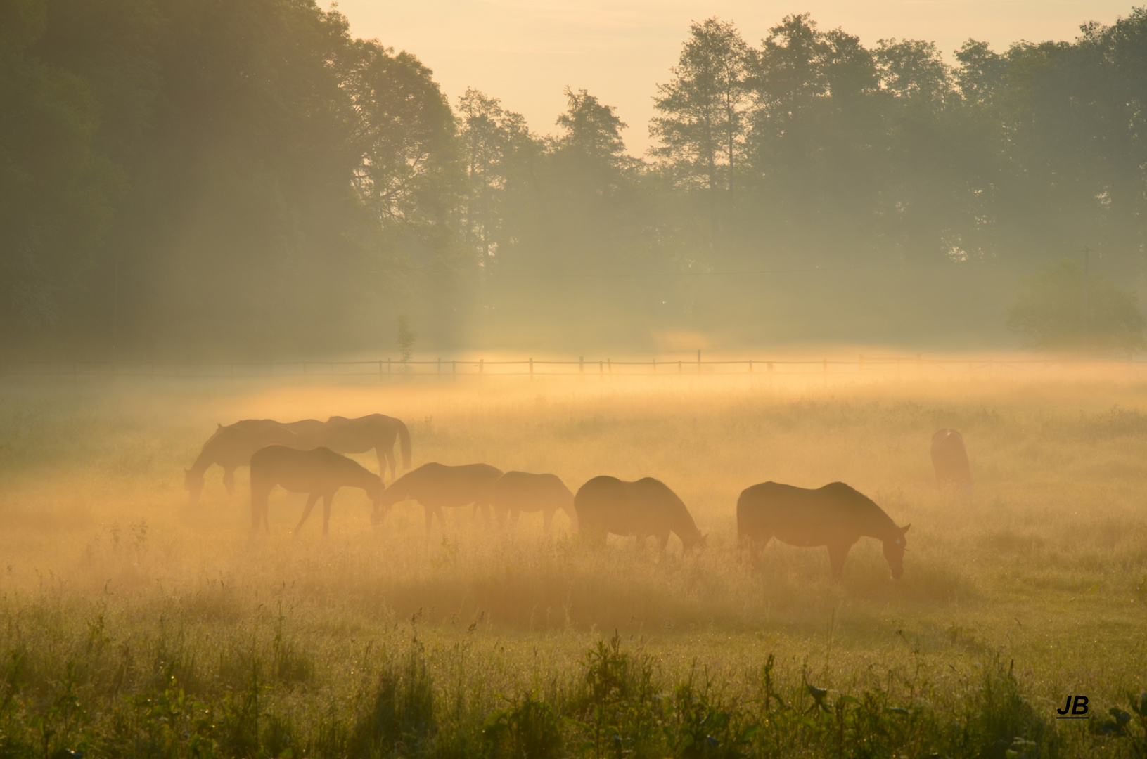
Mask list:
[[[8,377],[370,377],[377,380],[448,378],[459,376],[673,376],[673,375],[864,375],[905,371],[994,374],[1054,368],[1147,368],[1147,359],[931,359],[914,357],[868,357],[857,359],[721,359],[615,361],[612,359],[555,361],[539,359],[493,360],[436,359],[432,361],[235,361],[189,362],[92,362],[42,361],[0,363],[0,378]]]

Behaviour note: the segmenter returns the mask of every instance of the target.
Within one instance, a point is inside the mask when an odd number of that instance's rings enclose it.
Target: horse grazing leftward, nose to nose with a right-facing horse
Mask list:
[[[501,469],[490,464],[462,464],[447,467],[431,462],[408,471],[393,483],[375,502],[372,523],[381,524],[390,508],[399,501],[414,499],[426,509],[427,532],[438,517],[438,524],[446,529],[444,508],[474,504],[475,511],[487,509],[493,484],[502,476]]]

